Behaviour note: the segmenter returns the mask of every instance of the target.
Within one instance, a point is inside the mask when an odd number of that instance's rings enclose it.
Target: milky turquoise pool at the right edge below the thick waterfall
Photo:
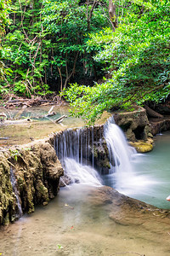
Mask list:
[[[156,207],[170,209],[170,202],[166,200],[170,195],[169,152],[170,131],[166,131],[156,136],[156,147],[153,151],[149,154],[137,154],[133,160],[133,168],[137,177],[142,177],[143,183],[134,184],[134,193],[132,189],[130,193],[126,193],[126,189],[121,192]]]

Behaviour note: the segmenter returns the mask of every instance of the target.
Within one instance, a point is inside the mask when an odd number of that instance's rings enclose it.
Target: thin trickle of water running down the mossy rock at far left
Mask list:
[[[23,212],[22,212],[22,207],[21,207],[21,204],[20,204],[19,191],[18,191],[17,186],[16,186],[16,179],[14,177],[14,171],[13,171],[12,166],[10,166],[10,181],[11,181],[11,184],[12,184],[12,187],[13,187],[13,192],[14,192],[14,195],[15,195],[15,198],[16,198],[16,203],[17,203],[17,206],[18,206],[18,214],[17,214],[16,217],[20,218],[23,215]]]

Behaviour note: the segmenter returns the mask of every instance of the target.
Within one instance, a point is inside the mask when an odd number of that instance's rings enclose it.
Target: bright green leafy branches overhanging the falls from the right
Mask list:
[[[100,47],[94,57],[107,63],[105,79],[94,88],[71,85],[64,92],[74,107],[71,114],[88,124],[104,110],[130,109],[147,101],[161,102],[170,92],[170,5],[167,1],[133,1],[110,28],[91,33],[88,45]]]

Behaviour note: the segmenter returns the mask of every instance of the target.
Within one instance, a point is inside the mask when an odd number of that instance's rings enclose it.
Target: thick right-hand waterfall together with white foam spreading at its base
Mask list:
[[[110,119],[105,125],[105,140],[111,162],[111,172],[105,177],[105,183],[125,195],[151,193],[151,186],[156,181],[133,169],[132,161],[138,159],[139,154],[127,145],[122,130],[113,122]]]

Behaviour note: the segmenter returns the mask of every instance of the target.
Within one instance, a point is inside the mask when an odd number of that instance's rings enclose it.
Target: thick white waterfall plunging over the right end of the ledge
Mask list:
[[[127,145],[126,137],[113,118],[108,119],[105,124],[104,137],[111,163],[110,174],[105,177],[105,183],[127,195],[133,189],[136,178],[130,162],[136,151]]]

